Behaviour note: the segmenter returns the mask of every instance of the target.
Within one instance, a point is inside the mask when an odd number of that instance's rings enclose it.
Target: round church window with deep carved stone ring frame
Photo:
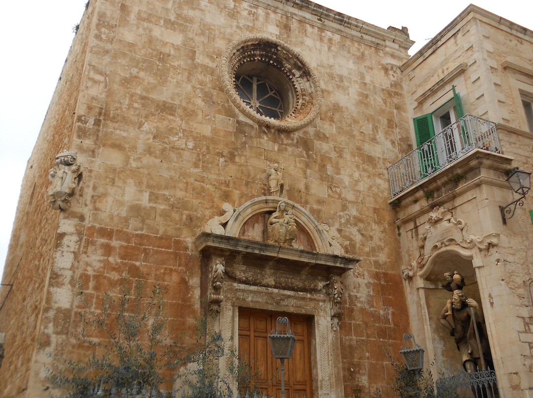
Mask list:
[[[259,125],[293,131],[318,114],[318,81],[300,55],[279,40],[233,42],[221,62],[224,91]]]

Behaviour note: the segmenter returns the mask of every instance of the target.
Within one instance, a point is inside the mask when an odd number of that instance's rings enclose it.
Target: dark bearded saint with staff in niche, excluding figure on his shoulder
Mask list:
[[[492,361],[481,325],[483,313],[479,304],[473,299],[467,299],[462,290],[454,291],[451,302],[451,319],[454,325],[448,320],[448,305],[442,309],[439,320],[442,326],[450,331],[450,336],[455,338],[464,369],[467,372],[487,369],[486,365]]]

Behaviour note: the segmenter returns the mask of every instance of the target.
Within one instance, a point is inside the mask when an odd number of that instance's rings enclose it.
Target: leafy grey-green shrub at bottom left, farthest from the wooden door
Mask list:
[[[133,292],[128,283],[124,281],[117,299],[103,295],[101,311],[88,309],[80,289],[79,299],[86,308],[79,313],[81,337],[93,352],[80,361],[54,358],[52,366],[46,367],[46,379],[66,392],[61,397],[85,397],[95,386],[109,393],[113,386],[131,391],[169,381],[163,374],[177,366],[177,342],[164,331],[167,318],[161,288],[154,286],[145,299],[141,281],[136,281]],[[87,336],[88,331],[93,337]],[[101,338],[94,337],[94,332]]]

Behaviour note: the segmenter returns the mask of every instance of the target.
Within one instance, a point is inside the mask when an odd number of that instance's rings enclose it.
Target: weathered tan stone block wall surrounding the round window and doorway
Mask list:
[[[36,253],[49,267],[35,281],[43,297],[27,347],[35,358],[21,359],[32,376],[17,382],[27,396],[46,394],[47,353],[86,353],[75,343],[78,281],[92,309],[103,292],[118,294],[124,278],[159,283],[170,322],[179,325],[172,333],[190,331],[201,299],[192,241],[223,203],[265,195],[273,161],[284,167],[284,196],[327,222],[346,254],[362,258],[344,277],[345,394],[384,387],[391,374],[382,347],[397,353],[409,331],[386,175],[409,146],[399,139],[408,130],[399,68],[407,54],[383,38],[387,31],[367,28],[355,32],[274,1],[91,0],[77,35],[83,45],[73,47],[79,59],[69,55],[60,84],[71,86],[56,92],[36,147],[50,162],[67,146],[85,171],[71,209],[43,206],[26,221],[54,218],[35,228],[47,231],[48,246]],[[220,57],[246,35],[282,40],[311,65],[323,101],[309,126],[257,126],[224,93]],[[49,167],[40,171],[41,197]],[[15,234],[28,227],[17,220]],[[6,396],[22,396],[9,380]]]

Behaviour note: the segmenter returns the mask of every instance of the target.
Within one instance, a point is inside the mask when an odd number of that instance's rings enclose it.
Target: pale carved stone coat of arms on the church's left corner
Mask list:
[[[64,210],[72,205],[70,200],[82,184],[83,164],[78,163],[76,152],[63,151],[55,156],[54,167],[48,178],[52,186],[48,190],[49,202],[54,210]]]

